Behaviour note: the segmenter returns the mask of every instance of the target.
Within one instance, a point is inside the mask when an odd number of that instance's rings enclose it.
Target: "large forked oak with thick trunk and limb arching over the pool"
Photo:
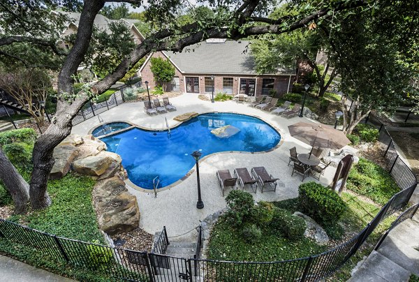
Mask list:
[[[73,1],[74,2],[74,1]],[[78,1],[80,3],[80,1]],[[126,0],[126,3],[134,5],[142,5],[140,0]],[[47,180],[50,170],[54,164],[52,152],[54,147],[59,144],[67,135],[71,133],[71,121],[91,98],[103,93],[109,89],[112,84],[120,80],[126,72],[134,66],[140,59],[147,56],[150,52],[170,50],[172,52],[181,52],[184,47],[199,43],[207,38],[229,38],[239,40],[249,36],[260,36],[263,34],[283,34],[296,29],[307,27],[314,20],[325,17],[330,13],[346,13],[356,7],[365,7],[368,13],[369,2],[363,0],[344,0],[344,1],[327,1],[323,6],[304,6],[300,8],[299,14],[293,17],[281,17],[278,20],[271,20],[266,15],[267,11],[272,8],[271,1],[266,0],[249,0],[249,1],[214,1],[207,2],[215,16],[210,21],[196,21],[179,27],[173,23],[174,15],[179,8],[182,8],[184,1],[179,0],[163,0],[149,1],[147,9],[147,20],[152,21],[153,28],[156,31],[145,38],[137,45],[119,64],[98,82],[90,85],[90,89],[82,89],[79,93],[73,92],[73,75],[82,63],[84,56],[87,54],[91,43],[93,33],[94,18],[103,8],[105,1],[84,0],[78,32],[75,36],[73,47],[68,54],[55,52],[57,56],[65,57],[64,63],[61,65],[57,78],[57,111],[52,118],[52,123],[45,133],[39,136],[34,145],[33,151],[33,172],[29,186],[29,198],[33,209],[43,209],[50,205],[50,198],[47,195]],[[32,26],[36,26],[37,30],[41,30],[40,22],[54,25],[56,28],[59,20],[55,20],[55,15],[49,13],[52,8],[63,4],[61,1],[20,1],[20,6],[24,6],[24,13],[27,17],[15,15],[15,5],[12,0],[4,1],[1,4],[1,20],[0,27],[6,29],[8,22],[3,19],[5,13],[7,17],[13,19],[16,17],[25,30],[31,30]],[[66,4],[66,1],[64,1]],[[72,3],[74,4],[74,3]],[[234,7],[234,8],[232,8]],[[44,12],[44,18],[38,19],[38,15],[34,14]],[[22,13],[22,14],[24,14]],[[30,20],[28,20],[30,19]],[[262,23],[262,24],[260,24]],[[14,34],[14,29],[7,29],[0,38],[0,48],[5,45],[13,45],[16,43],[31,43],[34,45],[44,44],[51,50],[54,50],[54,44],[49,36],[45,35],[45,31],[38,34],[29,34],[28,36],[18,36]],[[52,29],[54,30],[54,29]],[[60,29],[63,30],[63,29]],[[17,32],[17,31],[16,31]],[[56,31],[57,32],[57,31]],[[24,34],[24,32],[20,33]],[[20,58],[15,58],[16,60]],[[6,174],[14,172],[0,171],[2,177]],[[7,175],[6,175],[7,177]]]

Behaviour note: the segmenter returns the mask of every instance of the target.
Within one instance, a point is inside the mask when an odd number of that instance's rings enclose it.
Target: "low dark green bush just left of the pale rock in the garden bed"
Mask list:
[[[271,228],[280,232],[284,237],[297,240],[304,236],[306,223],[303,218],[293,216],[285,209],[274,209],[274,215],[270,222]]]

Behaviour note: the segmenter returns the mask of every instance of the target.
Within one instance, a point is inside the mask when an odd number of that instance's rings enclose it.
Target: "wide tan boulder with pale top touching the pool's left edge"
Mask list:
[[[118,154],[110,151],[101,151],[95,156],[88,156],[73,162],[73,170],[80,175],[108,178],[119,170],[122,159]]]

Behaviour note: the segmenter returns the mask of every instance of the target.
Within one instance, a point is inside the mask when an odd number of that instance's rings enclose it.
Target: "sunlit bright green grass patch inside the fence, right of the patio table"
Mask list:
[[[399,192],[399,187],[388,172],[365,158],[360,158],[359,163],[349,172],[346,188],[364,195],[378,205],[384,205]]]

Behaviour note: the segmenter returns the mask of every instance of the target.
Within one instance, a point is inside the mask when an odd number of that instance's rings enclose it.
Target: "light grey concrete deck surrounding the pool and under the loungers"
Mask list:
[[[189,177],[176,186],[159,192],[157,198],[154,198],[152,191],[145,193],[127,185],[128,191],[135,195],[138,200],[138,207],[141,214],[140,228],[154,234],[154,232],[161,231],[163,226],[166,225],[169,237],[182,235],[198,226],[200,221],[208,215],[226,207],[225,198],[221,195],[221,188],[216,178],[217,170],[229,169],[233,174],[234,168],[246,167],[250,171],[253,167],[264,166],[268,173],[273,177],[281,179],[284,185],[277,186],[276,192],[265,191],[264,193],[260,193],[260,189],[258,188],[256,194],[251,193],[256,201],[276,201],[297,197],[298,186],[302,182],[300,175],[291,177],[292,168],[288,166],[289,149],[295,146],[297,147],[298,153],[308,153],[311,147],[292,138],[288,131],[288,126],[298,121],[310,121],[309,119],[305,117],[285,119],[270,112],[263,112],[249,107],[247,103],[241,104],[235,103],[234,101],[211,103],[210,101],[200,100],[196,94],[182,94],[181,96],[170,98],[170,102],[177,107],[177,111],[150,117],[145,114],[142,102],[124,103],[107,112],[101,113],[101,117],[105,123],[111,121],[129,121],[143,128],[162,130],[166,128],[165,117],[171,127],[179,124],[178,121],[173,120],[173,117],[184,114],[185,112],[237,112],[260,117],[268,124],[277,128],[279,133],[281,133],[281,145],[277,149],[262,154],[238,152],[213,154],[200,161],[201,193],[205,204],[203,209],[196,208],[198,193],[195,170],[193,170]],[[72,133],[85,135],[89,133],[91,128],[99,124],[98,119],[93,117],[74,126]],[[196,149],[200,148],[191,148],[191,153]],[[336,168],[329,167],[325,171],[325,175],[320,179],[321,184],[329,185],[332,182],[332,177],[335,175],[335,170]],[[316,180],[312,177],[307,177],[304,179],[304,182],[307,181]],[[230,190],[226,191],[226,195],[228,191]],[[185,235],[185,237],[195,235],[196,232],[191,232]]]

